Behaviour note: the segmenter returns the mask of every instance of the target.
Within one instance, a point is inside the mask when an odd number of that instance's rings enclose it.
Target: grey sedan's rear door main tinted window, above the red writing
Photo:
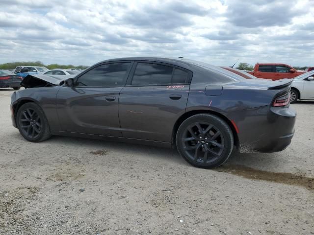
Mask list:
[[[173,67],[170,66],[137,63],[132,79],[132,85],[170,84],[172,71]]]

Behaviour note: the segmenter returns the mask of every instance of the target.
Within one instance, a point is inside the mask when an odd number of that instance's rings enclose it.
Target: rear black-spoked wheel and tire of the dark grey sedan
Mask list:
[[[223,119],[211,114],[197,114],[180,125],[176,144],[180,155],[189,164],[213,168],[230,157],[234,136]]]

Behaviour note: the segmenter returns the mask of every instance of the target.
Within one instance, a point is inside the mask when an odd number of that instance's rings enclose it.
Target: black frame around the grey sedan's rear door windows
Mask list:
[[[164,65],[164,66],[169,66],[172,67],[172,75],[171,75],[171,81],[173,78],[173,73],[174,73],[174,69],[180,69],[183,70],[185,72],[187,72],[187,78],[186,78],[186,82],[185,83],[161,83],[161,84],[142,84],[142,85],[132,85],[132,80],[134,77],[134,73],[135,73],[135,69],[138,63],[145,63],[145,64],[157,64],[157,65]],[[191,83],[192,80],[192,76],[193,76],[193,72],[190,70],[187,70],[185,68],[182,68],[180,66],[176,66],[176,65],[172,65],[172,64],[168,64],[168,63],[163,63],[163,62],[157,62],[157,61],[150,61],[150,60],[137,60],[134,62],[131,72],[128,76],[128,80],[127,83],[125,85],[125,87],[152,87],[152,86],[176,86],[176,85],[189,85]]]

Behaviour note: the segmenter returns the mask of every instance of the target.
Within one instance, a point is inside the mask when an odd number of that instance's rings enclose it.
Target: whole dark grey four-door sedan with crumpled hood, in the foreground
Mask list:
[[[285,149],[296,113],[293,79],[245,79],[206,63],[120,58],[61,81],[28,75],[12,94],[13,125],[28,141],[51,135],[175,146],[198,167],[240,152]]]

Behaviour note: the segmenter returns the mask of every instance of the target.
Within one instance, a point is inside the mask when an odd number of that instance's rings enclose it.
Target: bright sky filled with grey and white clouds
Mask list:
[[[0,0],[0,63],[126,56],[314,66],[314,0]]]

